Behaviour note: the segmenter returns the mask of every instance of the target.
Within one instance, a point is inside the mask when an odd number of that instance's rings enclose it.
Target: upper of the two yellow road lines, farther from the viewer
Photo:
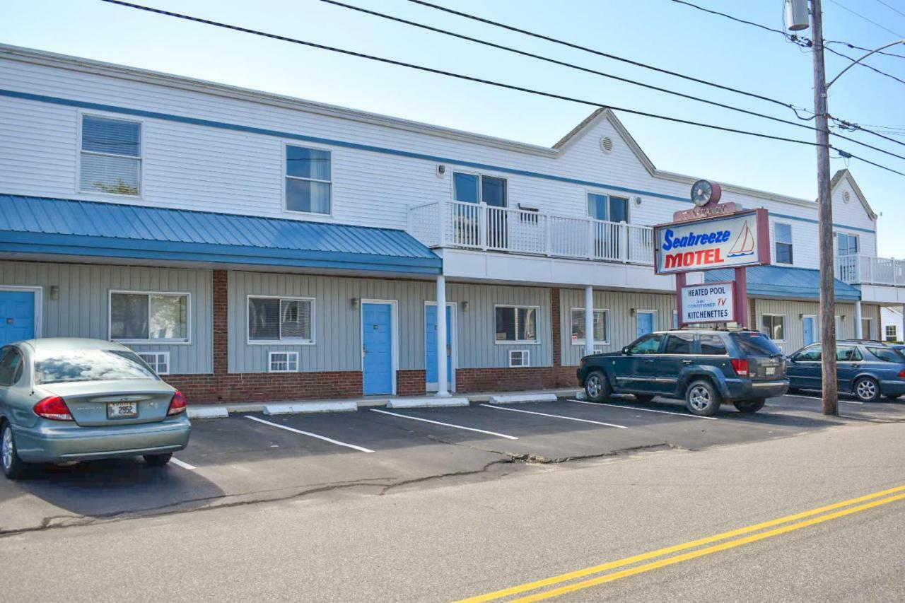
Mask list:
[[[892,493],[898,493],[905,491],[905,485],[896,486],[895,488],[890,488],[888,490],[882,490],[881,492],[876,492],[872,494],[865,494],[863,496],[858,496],[856,498],[851,498],[847,501],[842,501],[841,503],[833,503],[827,504],[823,507],[818,507],[816,509],[812,509],[810,511],[804,511],[795,513],[793,515],[786,515],[786,517],[780,517],[775,520],[770,520],[768,522],[761,522],[755,525],[750,525],[745,528],[738,528],[737,530],[724,531],[720,534],[715,534],[713,536],[708,536],[706,538],[700,538],[695,541],[684,542],[682,544],[672,545],[670,547],[665,547],[663,549],[652,550],[650,552],[642,553],[639,555],[633,555],[632,557],[626,557],[622,560],[608,561],[606,563],[601,563],[600,565],[595,565],[589,568],[585,568],[584,570],[575,570],[570,571],[565,574],[559,574],[558,576],[553,576],[551,578],[539,579],[533,582],[528,582],[526,584],[520,584],[518,586],[510,587],[508,589],[495,590],[493,592],[487,593],[485,595],[478,595],[476,597],[464,598],[459,603],[483,603],[484,601],[493,601],[500,598],[510,597],[512,595],[518,595],[523,592],[528,592],[529,590],[541,589],[543,587],[553,586],[555,584],[559,584],[561,582],[567,582],[569,580],[584,578],[586,576],[590,576],[591,574],[597,574],[606,570],[615,570],[616,568],[621,568],[626,565],[631,565],[633,563],[637,563],[639,561],[651,560],[655,557],[661,557],[662,555],[668,555],[673,552],[679,552],[681,550],[693,549],[695,547],[699,547],[703,544],[710,544],[711,542],[722,541],[728,538],[732,538],[735,536],[741,536],[744,534],[748,534],[752,531],[763,530],[765,528],[771,528],[773,526],[779,525],[780,523],[787,522],[795,522],[797,520],[805,519],[806,517],[813,517],[814,515],[818,515],[823,512],[834,511],[835,509],[841,509],[842,507],[847,507],[856,503],[863,503],[864,501],[870,501],[875,498],[880,498],[881,496],[886,496]]]

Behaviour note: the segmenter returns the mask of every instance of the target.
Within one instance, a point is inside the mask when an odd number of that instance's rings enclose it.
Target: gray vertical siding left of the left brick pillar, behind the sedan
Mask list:
[[[191,341],[129,344],[138,351],[168,351],[170,373],[211,373],[212,273],[209,270],[107,264],[0,262],[0,284],[43,287],[43,337],[110,338],[110,290],[187,292],[191,295]],[[51,287],[60,288],[50,299]]]

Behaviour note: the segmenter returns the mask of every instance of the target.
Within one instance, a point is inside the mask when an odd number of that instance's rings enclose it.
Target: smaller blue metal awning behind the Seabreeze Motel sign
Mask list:
[[[820,299],[820,271],[791,266],[753,266],[748,268],[748,295],[796,300]],[[704,273],[704,282],[734,281],[735,271],[721,268]],[[837,300],[860,300],[861,292],[835,279]]]

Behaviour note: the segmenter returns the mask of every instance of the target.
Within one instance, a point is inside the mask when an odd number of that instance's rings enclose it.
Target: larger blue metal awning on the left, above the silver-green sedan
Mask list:
[[[439,274],[401,230],[0,195],[0,252]]]

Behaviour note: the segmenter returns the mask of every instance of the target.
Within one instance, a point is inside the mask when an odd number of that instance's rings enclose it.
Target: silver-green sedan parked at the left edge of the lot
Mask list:
[[[167,464],[188,444],[186,397],[131,349],[100,340],[0,348],[0,466],[142,455]]]

